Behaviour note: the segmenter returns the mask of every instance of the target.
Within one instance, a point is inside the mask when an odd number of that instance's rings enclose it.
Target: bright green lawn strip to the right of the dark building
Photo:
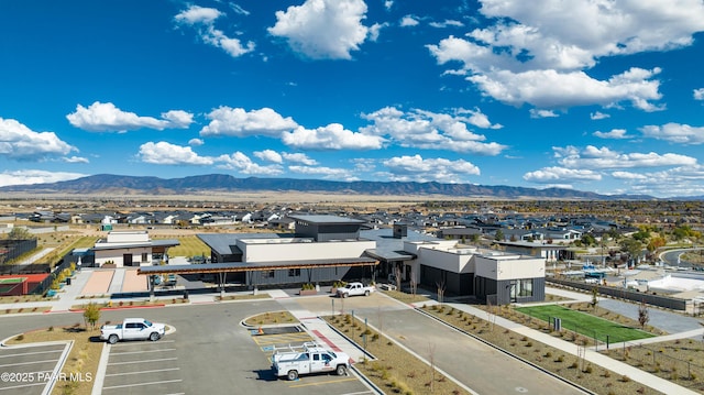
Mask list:
[[[519,307],[516,310],[549,322],[552,321],[552,317],[560,318],[562,319],[562,329],[572,330],[592,339],[596,337],[604,342],[608,336],[609,343],[652,338],[654,336],[638,328],[626,327],[618,322],[558,305]]]

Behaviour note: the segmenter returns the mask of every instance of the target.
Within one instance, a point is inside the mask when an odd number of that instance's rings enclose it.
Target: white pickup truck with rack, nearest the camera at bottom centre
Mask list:
[[[332,352],[312,342],[284,350],[275,350],[272,354],[272,370],[277,377],[296,380],[300,374],[322,372],[336,372],[341,376],[350,369],[350,355]]]

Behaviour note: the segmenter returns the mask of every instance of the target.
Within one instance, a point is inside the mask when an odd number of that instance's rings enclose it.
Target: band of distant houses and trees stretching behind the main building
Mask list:
[[[293,230],[292,215],[315,215],[309,211],[293,211],[288,208],[255,211],[144,211],[105,213],[65,213],[34,211],[24,217],[30,221],[45,223],[74,223],[98,226],[167,226],[167,227],[217,227],[249,224],[276,230]],[[363,228],[374,229],[405,223],[410,229],[435,232],[446,239],[468,239],[479,234],[499,241],[554,241],[579,240],[585,233],[600,235],[610,230],[635,231],[607,219],[596,217],[526,217],[519,215],[498,216],[492,212],[387,212],[373,213],[327,212],[363,221]],[[21,218],[23,215],[18,215]],[[501,235],[497,238],[497,234]]]

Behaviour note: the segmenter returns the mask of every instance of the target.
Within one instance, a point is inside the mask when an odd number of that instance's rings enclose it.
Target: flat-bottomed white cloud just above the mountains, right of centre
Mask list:
[[[480,175],[480,168],[464,160],[427,158],[420,155],[396,156],[382,162],[394,182],[464,183],[468,175]]]

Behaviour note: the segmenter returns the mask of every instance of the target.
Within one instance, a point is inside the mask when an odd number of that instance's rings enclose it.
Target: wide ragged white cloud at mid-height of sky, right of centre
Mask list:
[[[365,134],[388,136],[391,141],[405,147],[451,150],[481,155],[497,155],[506,149],[498,143],[484,143],[486,136],[476,134],[468,128],[468,125],[501,128],[499,124],[492,124],[479,109],[458,109],[454,112],[454,114],[425,110],[404,112],[386,107],[363,114],[362,118],[372,121],[372,124],[361,128],[360,131]]]

